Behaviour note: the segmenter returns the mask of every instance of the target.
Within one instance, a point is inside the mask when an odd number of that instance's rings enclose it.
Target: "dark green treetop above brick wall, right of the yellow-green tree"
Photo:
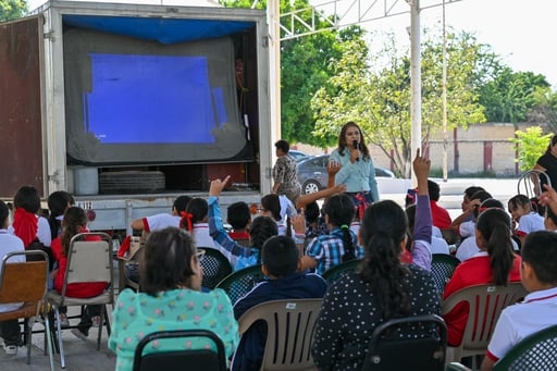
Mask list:
[[[548,87],[543,75],[504,67],[493,81],[480,88],[480,102],[485,107],[487,121],[517,124],[525,121],[534,108],[536,89]]]

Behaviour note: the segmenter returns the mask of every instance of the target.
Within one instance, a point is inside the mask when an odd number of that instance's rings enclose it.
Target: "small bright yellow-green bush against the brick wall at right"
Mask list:
[[[545,152],[553,134],[542,134],[543,131],[540,126],[530,126],[525,132],[516,131],[516,138],[509,138],[518,151],[518,158],[515,159],[515,162],[520,163],[521,171],[534,168],[540,156]]]

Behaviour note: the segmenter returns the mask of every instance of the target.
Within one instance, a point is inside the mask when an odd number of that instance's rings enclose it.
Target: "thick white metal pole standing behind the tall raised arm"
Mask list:
[[[410,4],[410,89],[411,89],[411,153],[413,158],[422,144],[422,83],[420,55],[420,0],[409,1]],[[412,184],[417,184],[412,172]]]

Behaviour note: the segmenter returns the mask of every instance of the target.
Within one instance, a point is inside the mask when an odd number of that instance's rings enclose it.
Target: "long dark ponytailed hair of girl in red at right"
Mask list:
[[[496,285],[507,285],[515,260],[508,213],[499,208],[484,210],[478,218],[475,228],[485,240],[485,247],[491,259],[493,282]]]

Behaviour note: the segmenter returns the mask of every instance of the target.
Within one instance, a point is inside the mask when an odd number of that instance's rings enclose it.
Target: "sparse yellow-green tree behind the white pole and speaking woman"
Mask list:
[[[431,35],[430,35],[431,36]],[[373,38],[373,39],[379,39]],[[344,45],[339,60],[333,61],[331,87],[321,88],[312,100],[318,118],[314,134],[333,140],[347,121],[362,127],[369,143],[392,158],[398,174],[410,175],[410,60],[399,52],[394,36],[380,52],[368,58],[362,44]],[[431,37],[422,47],[422,137],[442,125],[442,46]],[[451,34],[447,45],[448,127],[485,121],[474,84],[478,64],[488,54],[474,37]],[[385,61],[385,62],[382,62]],[[369,61],[369,62],[368,62]],[[393,153],[393,154],[392,154]]]

